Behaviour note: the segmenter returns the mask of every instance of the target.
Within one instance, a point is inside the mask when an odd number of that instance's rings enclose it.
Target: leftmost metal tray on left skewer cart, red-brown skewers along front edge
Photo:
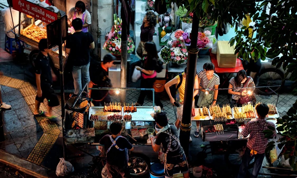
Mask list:
[[[104,111],[104,107],[90,107],[89,109],[89,120],[90,121],[109,121],[109,120],[117,120],[118,117],[116,115],[122,116],[122,111],[119,112],[108,112]],[[111,116],[111,117],[109,117]]]

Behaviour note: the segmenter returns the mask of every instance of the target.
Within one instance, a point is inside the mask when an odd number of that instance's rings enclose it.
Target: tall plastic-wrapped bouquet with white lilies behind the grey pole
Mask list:
[[[122,20],[114,16],[114,25],[108,34],[108,39],[103,45],[103,49],[107,50],[113,55],[121,55],[121,31]],[[128,53],[132,53],[135,49],[134,42],[130,36],[128,36],[127,50]]]

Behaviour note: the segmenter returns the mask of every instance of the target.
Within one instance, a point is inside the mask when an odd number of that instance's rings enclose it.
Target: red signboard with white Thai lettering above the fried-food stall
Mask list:
[[[57,14],[27,0],[13,0],[12,8],[34,18],[51,23],[58,19]]]

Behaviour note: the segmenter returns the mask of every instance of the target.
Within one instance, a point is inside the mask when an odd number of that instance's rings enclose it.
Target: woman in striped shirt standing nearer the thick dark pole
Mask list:
[[[198,71],[198,83],[199,83],[199,92],[198,96],[202,93],[203,95],[206,93],[205,89],[200,88],[208,88],[210,91],[208,91],[208,94],[206,95],[213,95],[211,98],[210,102],[208,101],[207,104],[204,102],[198,103],[198,101],[195,101],[195,104],[198,104],[198,107],[203,107],[203,106],[209,106],[210,104],[216,104],[217,102],[217,97],[218,97],[218,90],[213,90],[213,89],[218,89],[219,84],[220,84],[220,78],[217,74],[214,73],[214,64],[213,63],[205,63],[203,65],[203,69]],[[202,97],[202,96],[200,96]],[[203,103],[203,104],[202,104]],[[202,106],[201,106],[202,105]],[[194,136],[198,137],[199,132],[200,132],[200,121],[196,121],[196,131],[194,132]]]

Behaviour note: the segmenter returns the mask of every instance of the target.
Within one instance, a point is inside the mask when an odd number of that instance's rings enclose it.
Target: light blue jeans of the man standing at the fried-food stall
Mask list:
[[[72,76],[73,76],[73,84],[74,84],[74,94],[78,94],[81,91],[82,86],[85,86],[86,83],[90,82],[90,74],[89,74],[90,63],[84,66],[73,66],[72,67]],[[87,91],[87,87],[85,88]]]

